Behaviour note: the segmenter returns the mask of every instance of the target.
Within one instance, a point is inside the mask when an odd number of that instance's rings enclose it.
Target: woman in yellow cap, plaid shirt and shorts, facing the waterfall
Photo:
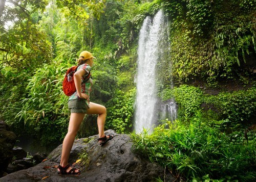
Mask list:
[[[59,174],[78,174],[79,169],[72,168],[68,161],[71,148],[75,141],[76,134],[81,122],[86,114],[98,114],[97,125],[99,131],[99,144],[103,145],[111,140],[113,136],[104,135],[104,124],[106,118],[106,108],[97,103],[90,102],[90,92],[92,79],[86,79],[93,66],[95,57],[89,51],[82,51],[78,59],[78,68],[74,73],[76,92],[70,96],[68,106],[71,110],[68,133],[63,140],[61,160],[58,166]]]

